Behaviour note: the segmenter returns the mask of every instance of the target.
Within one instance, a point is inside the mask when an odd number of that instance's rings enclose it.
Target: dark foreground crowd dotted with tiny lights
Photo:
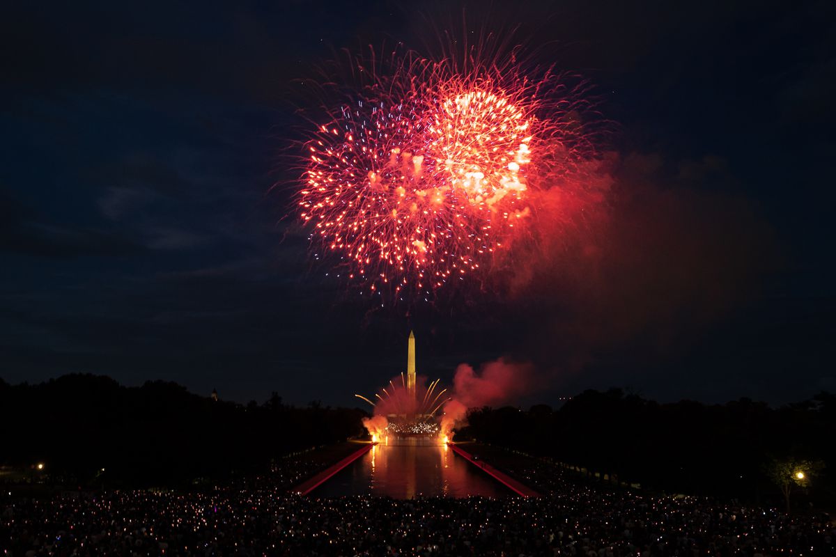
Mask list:
[[[0,555],[836,555],[823,518],[558,479],[554,487],[528,499],[221,489],[8,504]]]

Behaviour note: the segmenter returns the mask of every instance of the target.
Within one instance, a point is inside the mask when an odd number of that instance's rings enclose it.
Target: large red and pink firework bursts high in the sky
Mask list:
[[[308,141],[298,205],[371,291],[426,296],[490,266],[586,155],[578,99],[552,73],[408,54],[358,68],[364,84]]]

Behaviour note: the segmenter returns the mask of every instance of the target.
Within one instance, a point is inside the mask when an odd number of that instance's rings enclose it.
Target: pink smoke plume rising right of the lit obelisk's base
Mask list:
[[[530,363],[507,362],[504,358],[482,365],[479,372],[462,363],[453,377],[452,400],[444,406],[441,434],[448,437],[464,423],[468,408],[512,403],[537,387]]]

